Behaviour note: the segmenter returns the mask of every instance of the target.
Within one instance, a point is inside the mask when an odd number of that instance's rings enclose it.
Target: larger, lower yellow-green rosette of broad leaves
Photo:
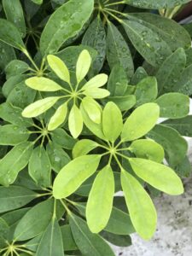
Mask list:
[[[180,178],[169,166],[162,164],[164,149],[153,140],[143,138],[159,119],[160,107],[156,103],[143,104],[124,123],[117,105],[108,102],[102,111],[101,124],[90,119],[83,104],[80,108],[84,124],[98,140],[82,139],[75,144],[74,159],[55,177],[55,199],[72,195],[100,169],[102,157],[108,155],[107,165],[98,171],[90,190],[86,205],[87,224],[93,233],[99,233],[108,224],[113,207],[113,171],[117,171],[112,166],[112,160],[115,160],[119,166],[121,187],[131,222],[143,239],[150,239],[154,235],[157,215],[143,182],[169,195],[183,193]],[[88,154],[95,148],[102,148],[103,153]],[[128,167],[122,165],[122,160],[127,161]]]

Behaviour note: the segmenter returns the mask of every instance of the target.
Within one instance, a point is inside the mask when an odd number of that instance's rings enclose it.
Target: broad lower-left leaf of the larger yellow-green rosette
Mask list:
[[[96,172],[100,160],[100,155],[90,154],[80,156],[64,166],[55,177],[54,197],[61,199],[73,194],[88,177]]]

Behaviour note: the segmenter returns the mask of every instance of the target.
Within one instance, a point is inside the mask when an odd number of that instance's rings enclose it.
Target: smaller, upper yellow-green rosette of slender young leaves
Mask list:
[[[53,107],[56,102],[62,101],[60,107],[56,109],[54,115],[49,119],[48,131],[54,131],[64,123],[67,119],[68,109],[70,108],[68,128],[72,136],[77,138],[82,132],[84,125],[83,116],[79,109],[79,102],[83,102],[90,119],[98,124],[101,122],[101,107],[95,99],[102,99],[109,96],[110,93],[108,90],[100,88],[108,82],[108,75],[101,73],[88,82],[84,80],[91,65],[90,53],[86,49],[80,53],[77,61],[76,84],[72,83],[70,72],[64,61],[61,61],[59,57],[48,55],[47,61],[49,67],[57,77],[66,82],[68,86],[64,88],[55,81],[44,77],[36,76],[26,79],[26,85],[34,90],[44,92],[61,91],[62,96],[49,96],[33,102],[23,110],[22,115],[26,118],[37,117]]]

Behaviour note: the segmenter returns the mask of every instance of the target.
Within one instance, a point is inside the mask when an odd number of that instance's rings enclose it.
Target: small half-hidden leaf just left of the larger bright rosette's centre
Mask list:
[[[88,139],[80,140],[73,147],[73,158],[88,154],[91,150],[97,148],[98,146],[99,144],[94,141]]]

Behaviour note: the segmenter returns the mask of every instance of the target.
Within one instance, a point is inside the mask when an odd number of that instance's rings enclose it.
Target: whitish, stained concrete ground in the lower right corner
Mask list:
[[[191,139],[189,155],[192,162]],[[184,195],[162,195],[154,199],[158,212],[154,238],[143,241],[134,234],[131,247],[113,247],[117,256],[192,256],[192,177],[184,183]]]

